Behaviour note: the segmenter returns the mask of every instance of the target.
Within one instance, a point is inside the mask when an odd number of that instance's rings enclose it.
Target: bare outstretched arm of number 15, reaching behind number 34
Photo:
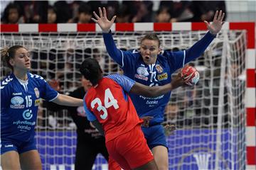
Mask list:
[[[53,100],[53,103],[63,106],[83,106],[82,99],[73,98],[65,94],[59,94],[58,97]]]

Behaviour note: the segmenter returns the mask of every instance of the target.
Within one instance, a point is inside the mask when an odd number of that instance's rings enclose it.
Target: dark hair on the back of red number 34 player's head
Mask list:
[[[95,86],[102,78],[102,69],[97,60],[93,58],[85,59],[79,69],[85,79],[90,80],[92,86]]]

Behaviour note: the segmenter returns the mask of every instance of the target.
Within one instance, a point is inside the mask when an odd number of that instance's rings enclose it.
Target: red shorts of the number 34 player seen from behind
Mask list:
[[[125,170],[135,169],[154,159],[140,125],[106,142],[106,147],[110,156]]]

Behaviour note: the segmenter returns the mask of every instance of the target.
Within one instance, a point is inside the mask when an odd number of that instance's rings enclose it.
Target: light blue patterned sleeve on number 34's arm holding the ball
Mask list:
[[[132,86],[134,86],[135,81],[132,79],[129,79],[129,77],[119,75],[119,74],[110,74],[107,76],[107,78],[110,78],[117,82],[120,86],[122,86],[122,89],[124,91],[129,92],[132,89]]]

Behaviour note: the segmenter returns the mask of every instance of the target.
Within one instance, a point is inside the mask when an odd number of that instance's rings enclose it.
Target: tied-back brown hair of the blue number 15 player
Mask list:
[[[26,47],[21,45],[14,45],[10,48],[4,47],[1,49],[1,60],[4,62],[4,65],[9,67],[12,71],[14,71],[14,67],[9,63],[9,61],[15,57],[16,51],[20,48],[26,49]]]

